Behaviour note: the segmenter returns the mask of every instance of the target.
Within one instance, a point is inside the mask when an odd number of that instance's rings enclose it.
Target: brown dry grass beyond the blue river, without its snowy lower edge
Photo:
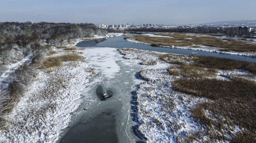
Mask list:
[[[125,39],[135,39],[140,42],[149,43],[154,46],[193,46],[204,45],[210,47],[218,47],[220,51],[236,51],[236,52],[256,52],[256,44],[244,42],[237,39],[216,38],[212,36],[188,36],[181,33],[158,33],[155,35],[170,36],[168,37],[150,37],[148,35],[136,35],[125,37]]]

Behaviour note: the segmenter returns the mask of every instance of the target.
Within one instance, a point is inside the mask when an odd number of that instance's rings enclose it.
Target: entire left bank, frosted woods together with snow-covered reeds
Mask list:
[[[0,23],[0,142],[58,139],[77,91],[96,75],[75,43],[105,34],[87,23]]]

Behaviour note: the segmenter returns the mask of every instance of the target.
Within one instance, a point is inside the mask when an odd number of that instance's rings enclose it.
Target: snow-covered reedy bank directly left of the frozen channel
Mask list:
[[[68,54],[55,50],[53,56]],[[83,56],[83,52],[75,53]],[[49,70],[53,71],[37,70],[36,80],[25,96],[3,117],[5,130],[0,131],[1,142],[55,142],[70,121],[69,113],[79,106],[78,90],[96,74],[85,60],[64,62]]]

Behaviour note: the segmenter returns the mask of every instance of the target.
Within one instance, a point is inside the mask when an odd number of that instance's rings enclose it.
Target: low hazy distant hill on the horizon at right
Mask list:
[[[219,21],[203,24],[219,24],[219,25],[255,25],[256,20],[234,20],[234,21]]]

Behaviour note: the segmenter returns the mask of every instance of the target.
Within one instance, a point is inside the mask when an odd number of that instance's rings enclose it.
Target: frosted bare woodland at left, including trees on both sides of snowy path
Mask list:
[[[107,30],[88,23],[0,22],[0,75],[7,70],[7,65],[17,63],[25,56],[32,57],[10,71],[5,83],[0,84],[0,125],[2,115],[12,109],[36,77],[34,69],[40,66],[52,45],[107,33]]]

